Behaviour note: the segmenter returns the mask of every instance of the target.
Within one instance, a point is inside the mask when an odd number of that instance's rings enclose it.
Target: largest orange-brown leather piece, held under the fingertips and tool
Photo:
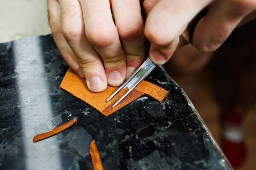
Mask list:
[[[60,88],[67,91],[68,93],[74,95],[75,97],[81,99],[85,103],[99,110],[103,115],[108,116],[120,108],[126,106],[130,102],[133,102],[137,98],[146,94],[153,97],[159,102],[162,102],[164,97],[167,95],[168,91],[165,89],[152,84],[147,81],[142,81],[132,93],[125,97],[115,108],[111,108],[117,100],[124,95],[128,88],[117,93],[110,101],[106,102],[106,99],[114,93],[118,87],[108,86],[105,91],[100,93],[91,92],[87,85],[85,79],[79,77],[71,68],[68,69],[65,77],[63,78]]]

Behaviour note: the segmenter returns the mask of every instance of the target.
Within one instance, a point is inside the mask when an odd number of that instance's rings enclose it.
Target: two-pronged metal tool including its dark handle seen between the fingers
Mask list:
[[[207,13],[207,9],[202,10],[187,26],[185,31],[180,35],[180,42],[177,45],[177,49],[180,47],[187,45],[190,43],[190,40],[192,38],[193,32],[195,30],[195,26],[198,23],[198,21]],[[135,71],[135,73],[132,74],[132,76],[122,84],[117,91],[115,91],[108,99],[106,99],[106,102],[108,102],[112,97],[114,97],[119,91],[123,90],[124,88],[128,87],[128,91],[112,106],[114,108],[123,100],[129,93],[131,93],[137,85],[148,76],[148,74],[153,71],[155,68],[155,64],[153,64],[148,57],[147,60],[141,64],[141,66]]]

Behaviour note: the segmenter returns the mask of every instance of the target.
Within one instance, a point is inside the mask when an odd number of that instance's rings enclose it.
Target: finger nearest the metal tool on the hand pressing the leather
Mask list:
[[[126,79],[145,60],[144,24],[138,0],[111,0],[115,24],[126,55]]]

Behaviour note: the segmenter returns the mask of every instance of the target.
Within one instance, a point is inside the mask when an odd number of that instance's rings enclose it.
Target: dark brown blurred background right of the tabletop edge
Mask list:
[[[191,99],[235,170],[256,167],[256,19],[213,53],[188,45],[164,65]]]

